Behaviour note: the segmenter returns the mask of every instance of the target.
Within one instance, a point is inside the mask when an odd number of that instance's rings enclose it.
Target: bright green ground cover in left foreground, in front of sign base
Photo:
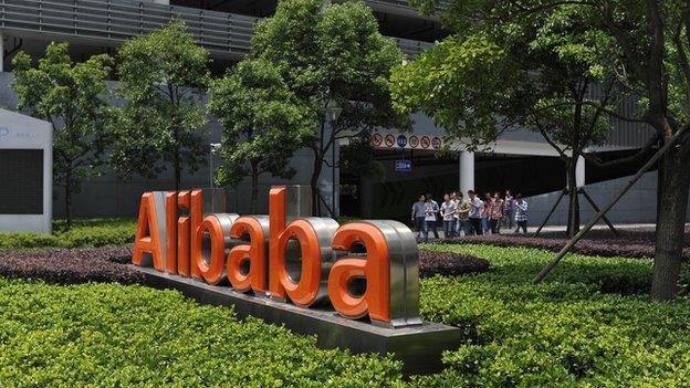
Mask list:
[[[386,387],[387,357],[323,350],[229,307],[143,286],[0,279],[2,386]]]

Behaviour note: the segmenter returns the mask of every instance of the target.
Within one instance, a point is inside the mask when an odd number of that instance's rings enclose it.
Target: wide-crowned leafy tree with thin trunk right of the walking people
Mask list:
[[[607,42],[568,35],[582,24],[577,12],[564,12],[525,25],[463,25],[393,74],[396,108],[422,111],[470,149],[512,127],[541,133],[566,166],[571,235],[579,229],[577,159],[610,128],[596,107],[610,105],[616,92],[590,49]],[[596,82],[607,84],[598,95]]]

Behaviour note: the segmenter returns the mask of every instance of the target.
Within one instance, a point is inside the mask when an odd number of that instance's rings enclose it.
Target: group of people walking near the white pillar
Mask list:
[[[412,205],[411,220],[417,229],[417,237],[429,241],[429,232],[439,238],[437,222],[442,220],[446,238],[464,235],[500,233],[501,228],[512,230],[513,221],[515,233],[522,229],[527,232],[527,202],[522,195],[513,197],[510,190],[505,193],[496,191],[493,196],[487,192],[480,199],[474,190],[468,191],[466,199],[461,191],[449,192],[443,196],[439,206],[431,193],[419,196]]]

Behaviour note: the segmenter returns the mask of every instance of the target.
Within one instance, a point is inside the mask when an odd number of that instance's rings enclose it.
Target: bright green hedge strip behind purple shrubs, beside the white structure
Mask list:
[[[134,242],[135,231],[134,219],[75,220],[71,230],[56,221],[53,234],[0,233],[0,250],[122,245]]]

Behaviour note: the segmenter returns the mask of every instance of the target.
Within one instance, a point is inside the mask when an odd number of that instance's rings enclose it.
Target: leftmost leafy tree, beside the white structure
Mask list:
[[[82,180],[98,174],[114,112],[107,102],[113,59],[94,55],[73,63],[67,43],[51,43],[38,66],[20,52],[12,61],[12,88],[19,108],[53,125],[53,172],[65,187],[66,227],[72,227],[72,195],[80,192]]]

